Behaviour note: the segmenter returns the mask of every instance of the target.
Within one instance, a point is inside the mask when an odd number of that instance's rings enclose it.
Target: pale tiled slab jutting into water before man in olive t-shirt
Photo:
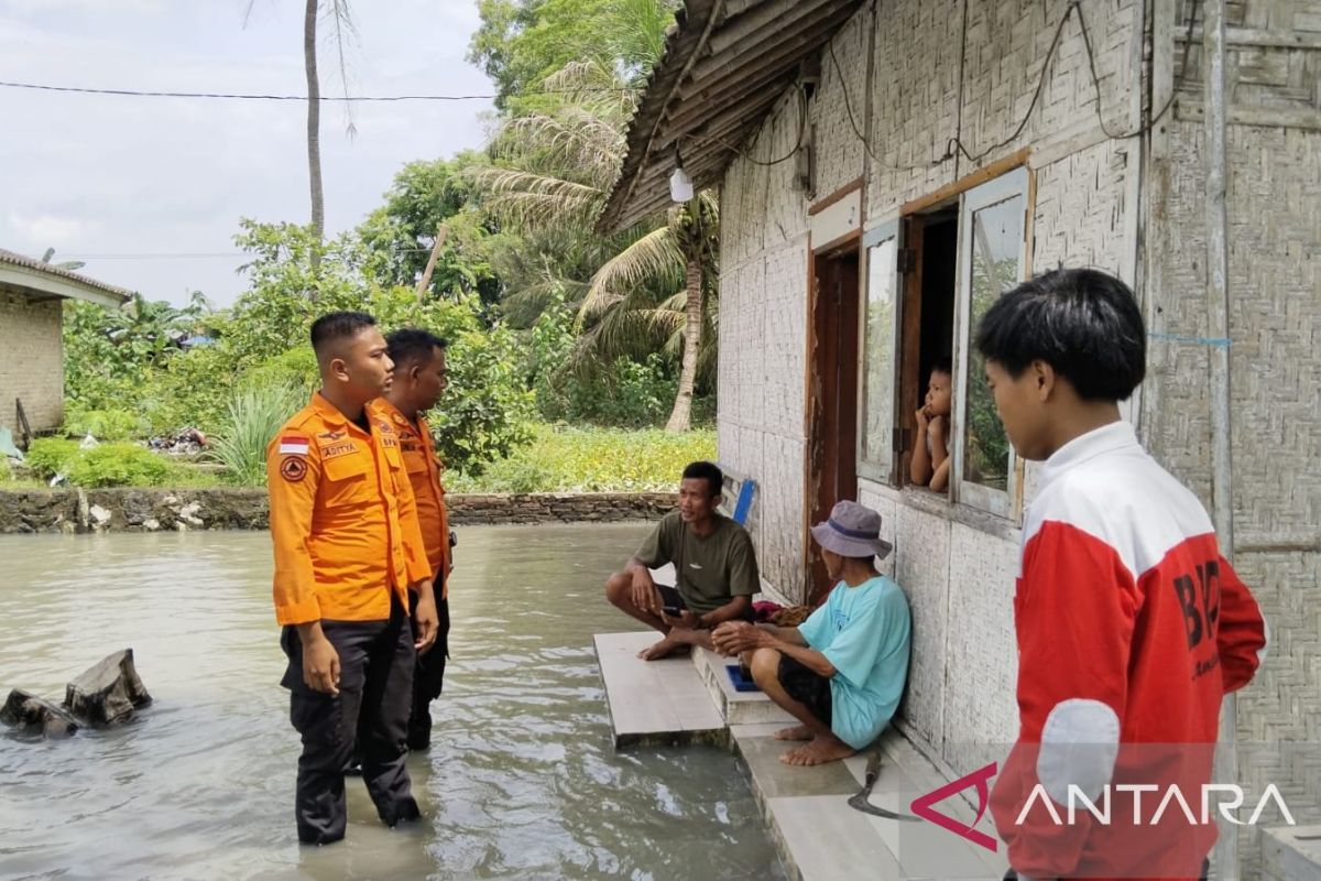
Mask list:
[[[725,720],[690,656],[642,660],[657,634],[601,633],[593,637],[610,708],[614,745],[724,742]]]

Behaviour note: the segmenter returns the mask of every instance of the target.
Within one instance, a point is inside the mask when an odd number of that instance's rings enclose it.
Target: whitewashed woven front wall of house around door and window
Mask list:
[[[875,50],[872,12],[859,12],[834,40],[835,59],[828,52],[822,55],[811,111],[815,198],[865,173],[864,218],[871,227],[896,217],[902,203],[974,170],[966,160],[933,160],[945,155],[951,137],[978,155],[1013,132],[1062,11],[1063,4],[1034,0],[898,0],[881,4]],[[1143,11],[1122,0],[1086,4],[1086,15],[1106,124],[1111,131],[1131,128]],[[872,120],[875,157],[848,120],[845,85],[856,124]],[[748,155],[783,156],[797,136],[798,112],[797,98],[786,94]],[[1032,147],[1037,188],[1033,271],[1059,263],[1099,265],[1132,280],[1139,144],[1102,133],[1077,21],[1063,30],[1032,120],[983,162],[1021,147]],[[717,442],[721,461],[760,481],[753,536],[764,576],[777,589],[802,596],[810,199],[795,188],[793,165],[765,168],[740,159],[725,177]],[[1030,494],[1030,472],[1028,478]],[[886,565],[913,606],[913,667],[901,724],[952,769],[972,770],[983,762],[971,744],[1003,744],[1017,729],[1017,523],[865,479],[859,499],[881,511],[896,544]],[[989,756],[1003,758],[1003,749],[991,748]]]

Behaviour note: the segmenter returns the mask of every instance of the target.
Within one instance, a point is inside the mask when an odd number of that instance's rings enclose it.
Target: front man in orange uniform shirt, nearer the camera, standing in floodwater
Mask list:
[[[312,325],[321,391],[267,449],[275,613],[289,658],[281,684],[303,736],[299,839],[329,844],[347,824],[343,778],[354,738],[387,826],[417,819],[404,767],[415,651],[436,639],[431,568],[390,420],[369,407],[392,363],[371,316]],[[417,586],[416,641],[408,589]]]

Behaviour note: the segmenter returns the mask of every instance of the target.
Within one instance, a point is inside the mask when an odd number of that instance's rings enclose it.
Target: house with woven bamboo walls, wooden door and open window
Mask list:
[[[1218,332],[1211,7],[1227,9]],[[1321,744],[1321,1],[687,0],[627,148],[602,229],[664,207],[676,162],[720,189],[719,454],[758,482],[764,577],[819,596],[807,524],[840,498],[884,515],[914,616],[905,736],[967,773],[996,757],[978,745],[1016,734],[1012,596],[1036,468],[1004,444],[968,341],[1000,291],[1062,264],[1137,292],[1148,379],[1125,419],[1209,510],[1229,487],[1222,544],[1273,630],[1239,737]],[[1209,382],[1226,351],[1227,425]],[[954,466],[937,494],[908,466],[942,355]],[[1242,763],[1321,818],[1314,754]]]

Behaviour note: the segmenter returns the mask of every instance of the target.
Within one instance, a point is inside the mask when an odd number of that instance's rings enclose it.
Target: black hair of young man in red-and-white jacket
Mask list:
[[[976,347],[1011,376],[1044,361],[1083,400],[1124,400],[1147,372],[1147,330],[1132,289],[1098,269],[1053,269],[987,310]]]

